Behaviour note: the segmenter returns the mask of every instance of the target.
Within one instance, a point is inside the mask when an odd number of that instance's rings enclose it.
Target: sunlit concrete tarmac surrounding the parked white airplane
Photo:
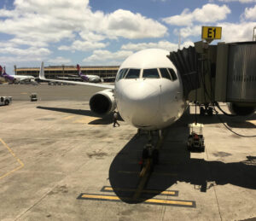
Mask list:
[[[79,85],[0,85],[0,220],[255,220],[256,137],[198,116],[206,151],[187,150],[195,107],[165,130],[160,163],[132,201],[146,135],[90,112]],[[38,102],[30,102],[32,92]],[[222,108],[227,110],[223,104]],[[246,121],[219,117],[243,135]],[[154,138],[156,135],[154,136]]]

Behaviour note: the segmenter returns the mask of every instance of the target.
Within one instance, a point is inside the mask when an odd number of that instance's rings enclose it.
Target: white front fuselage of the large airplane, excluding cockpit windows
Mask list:
[[[162,49],[146,49],[128,57],[119,68],[119,73],[122,69],[140,70],[136,79],[119,79],[118,73],[114,90],[121,117],[137,128],[157,130],[172,125],[186,108],[182,82],[176,68],[166,57],[168,53]],[[160,68],[172,68],[177,79],[163,78]],[[143,78],[145,69],[156,69],[159,78]]]

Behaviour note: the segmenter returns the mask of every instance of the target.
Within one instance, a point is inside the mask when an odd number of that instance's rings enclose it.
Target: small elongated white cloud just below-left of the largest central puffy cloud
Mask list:
[[[102,49],[105,48],[108,44],[98,43],[98,42],[85,42],[85,41],[74,41],[71,46],[61,45],[59,50],[81,50],[81,51],[89,51],[93,49]]]

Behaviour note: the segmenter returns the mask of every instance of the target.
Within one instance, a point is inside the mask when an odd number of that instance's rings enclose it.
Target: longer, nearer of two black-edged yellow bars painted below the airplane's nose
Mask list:
[[[116,195],[90,195],[90,194],[82,194],[78,197],[78,199],[82,200],[99,200],[99,201],[121,201],[120,198]],[[134,201],[131,198],[122,198],[122,200],[126,201]],[[143,199],[139,199],[142,201]],[[160,199],[148,199],[143,200],[144,203],[151,204],[161,204],[161,205],[170,205],[170,206],[187,206],[187,207],[195,207],[195,201],[172,201],[172,200],[160,200]]]

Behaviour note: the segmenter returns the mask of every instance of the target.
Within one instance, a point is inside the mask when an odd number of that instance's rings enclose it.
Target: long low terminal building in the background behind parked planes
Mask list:
[[[83,74],[98,75],[101,78],[115,77],[119,70],[119,66],[81,66]],[[16,67],[15,74],[17,75],[32,75],[35,78],[39,76],[40,67]],[[44,67],[45,77],[49,79],[57,79],[60,77],[69,77],[77,75],[76,66],[48,66]]]

